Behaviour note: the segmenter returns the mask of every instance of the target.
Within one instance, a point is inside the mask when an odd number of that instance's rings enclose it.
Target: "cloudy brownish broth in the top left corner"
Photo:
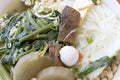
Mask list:
[[[14,10],[24,11],[28,7],[21,2],[21,0],[0,0],[0,17],[2,17],[6,12],[11,12]]]

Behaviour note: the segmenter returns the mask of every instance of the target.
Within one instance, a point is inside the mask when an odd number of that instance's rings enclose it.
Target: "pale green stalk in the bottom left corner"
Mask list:
[[[12,80],[10,74],[6,71],[6,69],[1,63],[0,63],[0,77],[2,77],[2,80]]]

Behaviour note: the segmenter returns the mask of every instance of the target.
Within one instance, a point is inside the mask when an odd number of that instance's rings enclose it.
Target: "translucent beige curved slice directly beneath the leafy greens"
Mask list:
[[[52,66],[52,60],[47,56],[40,56],[38,53],[30,53],[23,56],[13,68],[13,80],[31,80],[37,76],[37,74]]]

